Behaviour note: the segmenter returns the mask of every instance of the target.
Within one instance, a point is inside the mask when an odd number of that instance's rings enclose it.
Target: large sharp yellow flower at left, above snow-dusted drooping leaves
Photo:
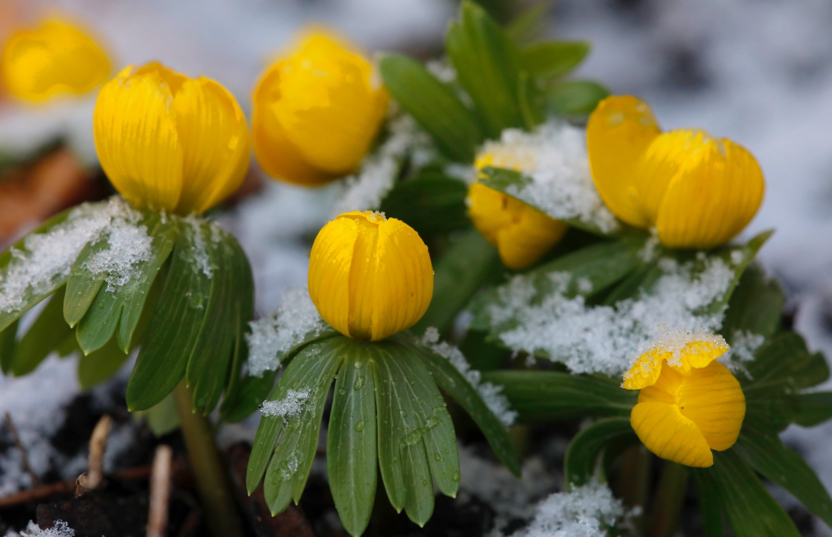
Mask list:
[[[207,211],[249,167],[249,131],[234,96],[156,62],[128,66],[102,87],[93,131],[107,177],[141,208]]]

